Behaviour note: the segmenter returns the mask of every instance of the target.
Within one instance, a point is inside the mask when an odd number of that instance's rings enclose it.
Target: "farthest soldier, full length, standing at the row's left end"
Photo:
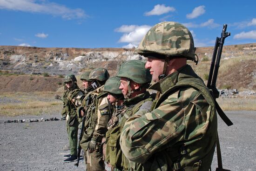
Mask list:
[[[77,131],[79,121],[76,115],[76,108],[81,105],[84,92],[78,87],[76,82],[77,80],[73,74],[66,75],[64,78],[67,92],[63,97],[63,101],[67,112],[67,132],[70,147],[70,155],[67,155],[69,158],[63,161],[65,163],[77,160]]]

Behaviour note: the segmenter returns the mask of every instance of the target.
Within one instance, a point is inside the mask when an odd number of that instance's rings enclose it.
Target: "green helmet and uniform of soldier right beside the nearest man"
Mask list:
[[[146,86],[151,81],[151,75],[149,70],[145,69],[145,62],[141,60],[130,60],[125,62],[121,68],[118,77],[124,77],[129,80],[133,80],[136,83],[141,84],[141,86]],[[133,90],[129,90],[133,93]],[[135,91],[135,90],[134,90]],[[122,107],[116,110],[113,114],[111,122],[108,123],[108,132],[106,134],[107,140],[107,158],[106,161],[109,162],[114,171],[129,171],[130,163],[128,159],[122,154],[120,147],[120,136],[121,130],[125,124],[125,121],[137,112],[141,105],[145,102],[152,102],[152,98],[149,92],[144,92],[138,94],[133,98],[125,99]],[[132,163],[136,167],[140,167],[141,164]]]

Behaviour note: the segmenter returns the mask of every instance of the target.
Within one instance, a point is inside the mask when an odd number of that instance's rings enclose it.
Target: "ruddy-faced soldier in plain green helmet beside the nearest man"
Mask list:
[[[114,171],[128,171],[130,164],[122,154],[119,143],[121,130],[125,121],[139,109],[144,108],[146,112],[149,111],[153,100],[146,90],[151,82],[151,75],[149,70],[145,69],[145,62],[130,60],[122,64],[117,76],[120,77],[119,89],[121,89],[125,100],[122,108],[115,114],[118,119],[108,125],[109,131],[106,135],[107,159],[109,159]],[[147,105],[141,106],[142,104],[147,104],[148,107],[145,107]],[[141,167],[141,164],[131,163],[131,165],[135,169]]]

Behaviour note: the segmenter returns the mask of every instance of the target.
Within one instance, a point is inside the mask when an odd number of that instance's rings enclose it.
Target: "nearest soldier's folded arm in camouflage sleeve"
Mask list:
[[[153,153],[164,150],[167,144],[171,146],[192,138],[192,134],[193,138],[202,136],[202,132],[193,131],[204,127],[205,120],[201,119],[202,123],[197,128],[189,127],[188,122],[195,117],[190,112],[199,111],[201,115],[196,103],[195,99],[190,101],[187,105],[190,111],[186,111],[188,108],[180,99],[168,98],[152,112],[129,118],[120,138],[124,155],[133,162],[145,163]]]

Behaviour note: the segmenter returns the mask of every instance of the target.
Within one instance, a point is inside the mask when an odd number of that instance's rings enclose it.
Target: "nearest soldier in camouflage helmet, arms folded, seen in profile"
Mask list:
[[[208,171],[216,145],[214,100],[187,60],[195,61],[189,30],[176,22],[153,26],[136,51],[147,57],[161,92],[151,112],[127,120],[121,133],[125,156],[145,171]]]

